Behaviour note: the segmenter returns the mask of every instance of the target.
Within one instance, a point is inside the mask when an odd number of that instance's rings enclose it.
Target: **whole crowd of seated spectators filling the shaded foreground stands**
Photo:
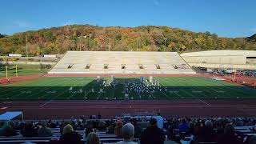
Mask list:
[[[26,122],[0,122],[0,135],[9,137],[20,134],[23,137],[51,137],[51,128],[59,128],[61,143],[100,143],[98,131],[106,134],[115,134],[116,138],[123,138],[119,144],[133,144],[134,138],[141,144],[162,144],[166,139],[180,142],[181,139],[189,138],[191,143],[216,142],[222,143],[248,143],[255,142],[255,136],[245,136],[235,131],[234,126],[252,126],[256,133],[255,118],[162,118],[160,114],[153,116],[149,126],[142,128],[139,122],[146,119],[88,119],[71,118],[69,121],[26,121]],[[84,131],[78,134],[76,130]]]

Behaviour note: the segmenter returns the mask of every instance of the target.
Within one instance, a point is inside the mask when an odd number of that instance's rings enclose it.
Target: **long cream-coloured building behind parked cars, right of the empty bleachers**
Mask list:
[[[254,50],[210,50],[180,54],[190,66],[221,69],[256,69]],[[255,58],[247,58],[255,57]]]

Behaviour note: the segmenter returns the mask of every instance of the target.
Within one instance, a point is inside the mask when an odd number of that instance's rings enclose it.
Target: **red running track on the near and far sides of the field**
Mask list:
[[[44,77],[96,77],[98,74],[46,74]],[[110,74],[100,74],[102,77]],[[151,74],[114,74],[116,77],[138,77]],[[11,82],[20,82],[41,75],[14,78]],[[212,77],[209,74],[158,74],[155,77]],[[1,80],[3,81],[4,78]],[[255,82],[254,78],[239,78],[246,82]],[[114,118],[123,113],[152,114],[160,110],[165,117],[256,117],[255,99],[200,100],[182,99],[169,101],[27,101],[1,102],[0,113],[22,110],[26,119],[78,118],[81,115],[101,113],[103,118]]]

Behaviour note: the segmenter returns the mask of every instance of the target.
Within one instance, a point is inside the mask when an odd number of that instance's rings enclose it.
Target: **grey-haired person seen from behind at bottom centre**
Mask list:
[[[122,126],[122,142],[118,142],[118,144],[136,144],[134,140],[134,125],[131,123],[126,123]]]

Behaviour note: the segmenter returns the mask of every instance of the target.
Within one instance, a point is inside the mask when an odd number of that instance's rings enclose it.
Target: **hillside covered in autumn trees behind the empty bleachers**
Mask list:
[[[167,26],[71,25],[0,37],[0,54],[64,54],[67,50],[199,51],[256,50],[253,38],[219,38]]]

